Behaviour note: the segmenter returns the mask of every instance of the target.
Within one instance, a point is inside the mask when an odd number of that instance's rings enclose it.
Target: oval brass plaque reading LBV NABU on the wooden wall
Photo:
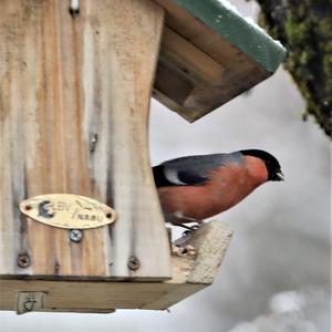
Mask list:
[[[20,210],[33,220],[60,228],[86,229],[112,224],[116,212],[108,206],[79,195],[50,194],[23,200]]]

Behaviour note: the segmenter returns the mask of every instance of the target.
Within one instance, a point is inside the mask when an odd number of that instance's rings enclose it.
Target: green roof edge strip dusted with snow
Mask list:
[[[274,72],[286,55],[286,49],[260,28],[224,6],[218,0],[174,0],[249,55],[269,72]]]

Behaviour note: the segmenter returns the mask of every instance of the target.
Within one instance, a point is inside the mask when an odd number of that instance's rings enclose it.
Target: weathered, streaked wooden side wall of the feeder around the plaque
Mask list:
[[[64,0],[1,1],[0,274],[167,279],[147,146],[164,13],[149,0],[80,7],[72,17]],[[44,194],[97,199],[118,219],[71,242],[20,214],[20,201]]]

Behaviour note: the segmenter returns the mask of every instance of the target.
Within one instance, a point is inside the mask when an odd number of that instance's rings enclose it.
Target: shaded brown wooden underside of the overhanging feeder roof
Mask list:
[[[155,2],[166,11],[166,29],[154,96],[187,121],[203,117],[272,74],[176,1]]]

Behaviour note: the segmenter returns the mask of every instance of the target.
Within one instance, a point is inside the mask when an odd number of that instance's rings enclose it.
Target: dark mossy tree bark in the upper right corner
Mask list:
[[[250,0],[249,0],[250,1]],[[284,63],[307,107],[332,134],[332,2],[331,0],[257,0],[260,23],[288,49]]]

